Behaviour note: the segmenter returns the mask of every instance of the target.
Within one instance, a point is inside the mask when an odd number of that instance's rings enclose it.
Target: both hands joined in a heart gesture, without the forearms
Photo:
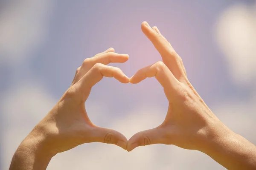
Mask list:
[[[77,69],[70,88],[35,126],[29,134],[32,138],[24,140],[25,145],[38,138],[38,141],[47,143],[44,149],[47,147],[51,156],[89,142],[116,144],[128,151],[157,143],[175,144],[187,149],[203,146],[207,130],[212,130],[208,122],[220,121],[189,83],[181,58],[157,27],[151,28],[143,22],[141,28],[161,54],[163,62],[142,68],[129,79],[119,68],[108,66],[111,62],[126,62],[128,54],[117,54],[109,48],[85,59]],[[104,76],[114,77],[122,83],[138,83],[146,77],[156,77],[169,101],[166,119],[160,126],[139,132],[129,141],[116,130],[94,125],[87,116],[84,103],[93,85]],[[39,132],[40,137],[35,137]]]

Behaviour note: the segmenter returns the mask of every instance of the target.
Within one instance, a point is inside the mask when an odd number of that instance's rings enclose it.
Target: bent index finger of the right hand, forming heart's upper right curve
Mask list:
[[[147,77],[156,77],[157,81],[160,82],[163,88],[169,90],[174,90],[178,83],[172,72],[161,61],[156,62],[153,65],[148,65],[147,67],[137,71],[137,73],[130,78],[130,82],[136,84]]]

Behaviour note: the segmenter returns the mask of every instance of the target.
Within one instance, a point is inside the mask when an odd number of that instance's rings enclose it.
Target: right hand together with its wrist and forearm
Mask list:
[[[127,150],[148,144],[174,144],[206,153],[227,169],[256,169],[256,146],[226,127],[207,107],[190,84],[179,55],[157,27],[142,23],[142,31],[162,56],[130,78],[139,83],[156,77],[169,101],[166,118],[154,129],[136,133]]]

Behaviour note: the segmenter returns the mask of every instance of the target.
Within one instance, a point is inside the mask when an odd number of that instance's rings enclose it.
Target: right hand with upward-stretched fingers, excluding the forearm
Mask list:
[[[156,77],[169,101],[165,120],[154,129],[136,133],[128,141],[127,150],[148,144],[174,144],[186,149],[203,150],[207,141],[231,131],[210,111],[190,84],[181,58],[157,27],[142,23],[142,31],[162,56],[157,62],[140,69],[130,78],[139,83]]]

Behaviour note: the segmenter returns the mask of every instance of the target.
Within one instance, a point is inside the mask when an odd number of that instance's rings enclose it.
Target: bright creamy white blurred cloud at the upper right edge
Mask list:
[[[220,15],[216,38],[234,83],[247,85],[256,77],[256,5],[236,4]]]

